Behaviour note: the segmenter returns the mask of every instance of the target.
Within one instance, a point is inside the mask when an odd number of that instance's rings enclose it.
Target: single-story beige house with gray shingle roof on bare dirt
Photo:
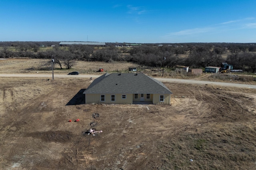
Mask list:
[[[83,94],[86,104],[170,104],[172,92],[143,73],[105,73]]]

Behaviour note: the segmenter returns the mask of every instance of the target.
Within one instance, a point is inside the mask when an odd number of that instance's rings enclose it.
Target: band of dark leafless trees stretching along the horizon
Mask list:
[[[128,61],[144,66],[174,68],[176,65],[203,68],[220,66],[227,62],[234,69],[256,71],[256,44],[248,43],[180,43],[180,44],[143,44],[128,48],[124,43],[116,47],[106,43],[106,47],[89,45],[69,45],[59,47],[58,42],[44,42],[48,47],[40,51],[42,42],[0,42],[0,58],[28,57],[50,59],[60,68],[70,69],[75,61]],[[54,45],[53,45],[54,44]],[[119,46],[119,45],[118,45]],[[14,48],[14,51],[10,50]]]

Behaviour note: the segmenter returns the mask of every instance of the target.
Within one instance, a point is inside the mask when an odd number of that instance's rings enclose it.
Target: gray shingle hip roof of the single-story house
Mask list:
[[[96,78],[84,94],[172,94],[160,81],[143,73],[112,73]]]

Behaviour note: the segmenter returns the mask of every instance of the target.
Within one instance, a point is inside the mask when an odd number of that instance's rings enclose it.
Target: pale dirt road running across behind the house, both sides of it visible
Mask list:
[[[66,75],[66,74],[54,74],[54,78],[98,78],[102,74],[80,74],[80,75]],[[0,77],[46,77],[52,78],[52,74],[0,74]],[[256,88],[256,85],[252,84],[238,84],[238,83],[226,83],[226,82],[211,82],[201,80],[188,80],[188,79],[176,79],[176,78],[155,78],[161,82],[174,82],[174,83],[187,83],[187,84],[213,84],[216,86],[230,86],[238,88]]]

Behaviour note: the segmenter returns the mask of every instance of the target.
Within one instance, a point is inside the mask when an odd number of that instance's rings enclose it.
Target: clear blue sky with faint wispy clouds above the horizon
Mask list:
[[[255,0],[0,0],[0,41],[256,42]]]

